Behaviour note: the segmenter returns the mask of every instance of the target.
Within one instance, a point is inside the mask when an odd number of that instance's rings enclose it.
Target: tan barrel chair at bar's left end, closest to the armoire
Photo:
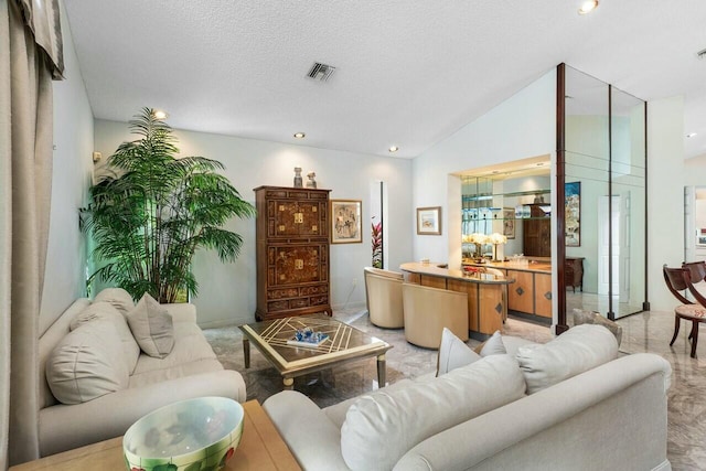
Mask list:
[[[405,325],[402,306],[403,275],[365,267],[365,302],[371,322],[378,328],[399,329]]]

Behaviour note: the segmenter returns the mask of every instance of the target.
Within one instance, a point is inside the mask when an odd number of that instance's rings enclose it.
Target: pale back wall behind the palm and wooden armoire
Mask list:
[[[136,110],[136,114],[139,110]],[[176,130],[182,156],[203,156],[225,164],[225,175],[252,203],[253,189],[260,185],[291,186],[293,168],[317,173],[320,189],[331,199],[363,201],[363,243],[331,245],[331,303],[334,309],[365,306],[363,267],[371,265],[370,184],[385,181],[388,194],[386,228],[389,237],[388,266],[393,269],[411,259],[411,162],[335,150],[315,149],[236,137]],[[96,120],[95,147],[104,159],[118,144],[133,139],[124,122]],[[222,264],[216,254],[199,253],[194,272],[200,292],[193,302],[202,327],[253,322],[256,304],[255,220],[234,221],[228,228],[244,237],[240,256]]]

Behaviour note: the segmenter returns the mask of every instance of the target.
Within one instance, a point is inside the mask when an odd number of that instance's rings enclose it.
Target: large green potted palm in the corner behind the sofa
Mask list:
[[[152,109],[143,108],[129,126],[139,139],[121,143],[108,158],[106,174],[82,210],[99,266],[88,281],[97,277],[135,299],[149,292],[173,302],[180,292],[197,292],[191,271],[195,250],[214,249],[223,261],[234,261],[243,238],[224,225],[256,211],[218,173],[221,162],[176,158],[176,138]]]

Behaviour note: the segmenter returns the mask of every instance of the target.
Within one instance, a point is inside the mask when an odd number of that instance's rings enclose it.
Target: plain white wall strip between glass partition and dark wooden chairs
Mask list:
[[[684,171],[683,136],[682,97],[648,104],[648,299],[653,311],[672,311],[676,304],[662,265],[680,266],[684,256],[684,185],[691,176]]]

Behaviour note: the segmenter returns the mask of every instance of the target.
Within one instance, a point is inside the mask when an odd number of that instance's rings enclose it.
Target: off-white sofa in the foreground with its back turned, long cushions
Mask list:
[[[618,357],[614,336],[599,325],[546,345],[502,340],[507,353],[438,377],[324,409],[282,392],[264,408],[304,470],[671,469],[668,362]],[[453,363],[443,351],[442,342],[440,365]]]

